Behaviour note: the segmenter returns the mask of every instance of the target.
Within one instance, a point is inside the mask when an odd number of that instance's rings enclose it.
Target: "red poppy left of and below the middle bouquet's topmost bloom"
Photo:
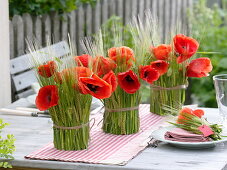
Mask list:
[[[102,76],[114,70],[117,67],[115,62],[110,58],[104,58],[103,56],[97,56],[93,60],[93,71],[98,75]]]

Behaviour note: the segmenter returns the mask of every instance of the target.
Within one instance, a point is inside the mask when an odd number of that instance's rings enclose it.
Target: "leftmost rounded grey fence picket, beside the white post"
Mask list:
[[[13,17],[14,35],[15,35],[15,48],[16,56],[24,54],[25,40],[24,40],[24,23],[22,17],[15,15]]]

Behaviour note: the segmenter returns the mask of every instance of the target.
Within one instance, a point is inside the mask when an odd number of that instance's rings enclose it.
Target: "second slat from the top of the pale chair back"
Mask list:
[[[32,83],[37,82],[34,70],[24,72],[22,74],[12,76],[16,91],[30,87]]]

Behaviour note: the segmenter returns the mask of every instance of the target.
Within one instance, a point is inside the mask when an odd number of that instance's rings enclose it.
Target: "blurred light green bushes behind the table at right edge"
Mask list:
[[[208,8],[206,0],[199,0],[188,13],[193,37],[200,42],[199,51],[219,52],[200,55],[212,60],[213,71],[209,77],[190,80],[193,102],[205,107],[217,107],[212,76],[227,73],[227,1],[222,5]]]

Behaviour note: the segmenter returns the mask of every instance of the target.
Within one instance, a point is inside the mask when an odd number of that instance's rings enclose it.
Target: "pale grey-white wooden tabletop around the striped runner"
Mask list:
[[[20,101],[26,106],[25,101]],[[19,102],[19,103],[20,103]],[[23,103],[24,102],[24,103]],[[20,106],[11,105],[10,107]],[[216,121],[217,109],[205,109],[208,120]],[[11,133],[16,138],[13,166],[44,169],[75,170],[221,170],[227,169],[227,143],[203,150],[187,150],[161,143],[157,148],[147,148],[125,166],[107,166],[86,163],[28,160],[24,156],[52,141],[52,123],[49,118],[0,115],[10,123],[3,134]]]

